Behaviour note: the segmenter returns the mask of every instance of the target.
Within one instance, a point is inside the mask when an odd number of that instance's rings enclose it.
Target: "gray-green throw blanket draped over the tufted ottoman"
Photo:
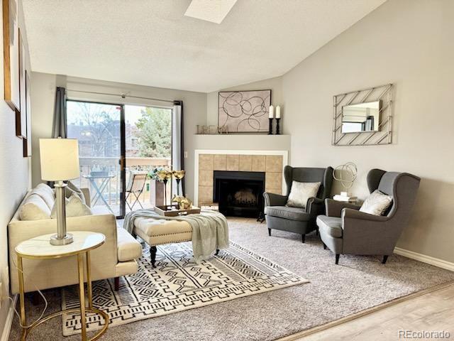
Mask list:
[[[154,210],[135,210],[125,216],[123,228],[132,234],[134,221],[138,217],[188,222],[192,227],[192,252],[195,261],[208,259],[216,249],[228,248],[228,223],[226,217],[219,212],[201,210],[199,215],[163,217]]]

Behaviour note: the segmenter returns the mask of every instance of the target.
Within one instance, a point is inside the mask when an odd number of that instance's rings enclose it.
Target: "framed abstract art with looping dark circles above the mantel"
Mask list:
[[[271,90],[223,91],[218,94],[218,126],[229,133],[267,133]]]

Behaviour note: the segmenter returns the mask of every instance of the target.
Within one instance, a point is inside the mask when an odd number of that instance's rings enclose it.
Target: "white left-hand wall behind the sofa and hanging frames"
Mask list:
[[[1,9],[0,9],[1,11]],[[26,40],[23,25],[22,3],[19,1],[19,27]],[[0,26],[0,36],[3,36],[3,26]],[[26,43],[26,42],[25,42]],[[3,55],[3,44],[1,55]],[[30,70],[28,48],[26,44],[26,69]],[[19,203],[26,195],[30,185],[30,158],[23,157],[22,140],[16,137],[16,118],[14,112],[4,101],[4,67],[0,63],[0,337],[4,330],[6,315],[9,311],[9,270],[8,270],[8,234],[7,225]]]

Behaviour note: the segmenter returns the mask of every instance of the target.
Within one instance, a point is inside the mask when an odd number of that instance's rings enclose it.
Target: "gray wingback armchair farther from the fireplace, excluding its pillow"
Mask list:
[[[411,215],[420,178],[409,173],[372,169],[367,173],[370,193],[392,195],[392,205],[382,216],[360,212],[360,206],[326,199],[326,215],[317,217],[323,247],[336,254],[382,255],[382,264],[394,251]]]

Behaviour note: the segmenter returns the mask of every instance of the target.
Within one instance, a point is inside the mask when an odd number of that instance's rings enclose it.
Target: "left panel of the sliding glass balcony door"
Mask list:
[[[67,100],[67,137],[79,140],[80,176],[92,209],[125,215],[125,129],[121,104]]]

